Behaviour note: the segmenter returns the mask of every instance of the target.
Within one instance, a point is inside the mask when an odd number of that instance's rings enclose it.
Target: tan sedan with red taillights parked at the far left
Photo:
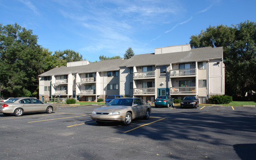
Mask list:
[[[24,112],[41,112],[52,113],[57,107],[50,103],[44,103],[36,98],[17,97],[9,99],[4,103],[0,103],[0,113],[6,116],[14,114],[15,116],[22,116]]]

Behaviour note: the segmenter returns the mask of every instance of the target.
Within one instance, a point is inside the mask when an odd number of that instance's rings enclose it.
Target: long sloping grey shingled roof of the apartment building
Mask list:
[[[74,73],[94,73],[94,72],[107,72],[117,71],[120,67],[133,67],[133,66],[160,66],[169,65],[171,63],[186,63],[195,61],[208,61],[210,59],[223,59],[223,48],[222,47],[205,47],[205,48],[194,48],[190,51],[180,51],[174,53],[163,53],[163,54],[140,54],[134,55],[130,59],[110,59],[105,61],[98,61],[96,63],[89,63],[82,66],[61,66],[49,70],[41,75],[67,75]]]

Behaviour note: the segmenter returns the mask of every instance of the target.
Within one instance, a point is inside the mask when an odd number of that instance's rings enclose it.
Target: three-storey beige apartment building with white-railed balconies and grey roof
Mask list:
[[[75,97],[80,101],[106,99],[108,95],[157,96],[176,99],[193,95],[224,95],[223,48],[195,48],[189,44],[155,48],[154,53],[130,59],[89,63],[78,61],[39,75],[40,97]]]

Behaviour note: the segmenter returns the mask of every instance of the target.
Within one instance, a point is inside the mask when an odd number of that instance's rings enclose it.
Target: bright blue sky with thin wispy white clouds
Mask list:
[[[256,22],[254,0],[0,0],[0,23],[19,24],[54,52],[74,50],[88,61],[188,44],[217,25]]]

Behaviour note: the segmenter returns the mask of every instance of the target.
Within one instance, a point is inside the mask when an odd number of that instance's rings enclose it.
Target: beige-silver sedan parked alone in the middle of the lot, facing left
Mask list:
[[[144,117],[148,119],[151,105],[140,98],[117,98],[108,105],[94,109],[91,119],[97,123],[120,121],[124,125],[130,125],[134,118]]]

